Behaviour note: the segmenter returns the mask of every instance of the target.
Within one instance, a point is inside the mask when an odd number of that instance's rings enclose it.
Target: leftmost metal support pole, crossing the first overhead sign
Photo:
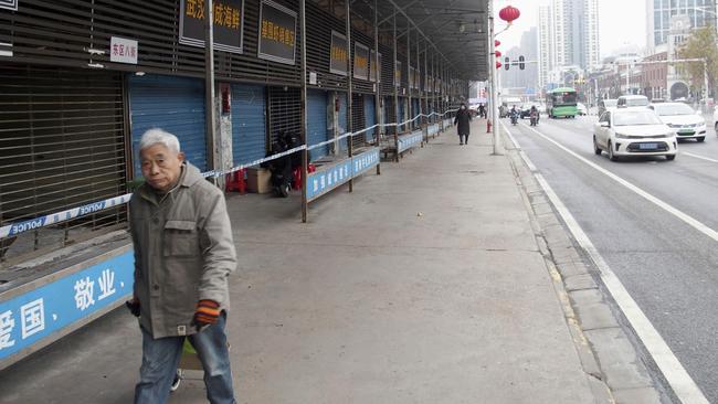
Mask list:
[[[207,162],[210,170],[218,168],[214,130],[214,33],[212,30],[212,2],[204,3],[204,130]]]

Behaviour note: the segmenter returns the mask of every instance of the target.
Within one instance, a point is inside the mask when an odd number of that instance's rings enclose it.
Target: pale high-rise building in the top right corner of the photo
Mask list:
[[[646,0],[648,53],[667,42],[672,17],[687,15],[690,28],[716,26],[716,0]]]

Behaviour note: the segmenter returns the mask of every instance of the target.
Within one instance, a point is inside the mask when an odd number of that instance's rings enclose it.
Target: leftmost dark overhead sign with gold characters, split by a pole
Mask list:
[[[180,43],[204,47],[204,24],[209,0],[180,0]],[[214,49],[242,53],[244,0],[212,1]]]

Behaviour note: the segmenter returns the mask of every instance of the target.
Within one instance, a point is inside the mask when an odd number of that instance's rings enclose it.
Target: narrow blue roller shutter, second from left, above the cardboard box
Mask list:
[[[234,166],[266,155],[264,86],[232,84],[232,157]]]

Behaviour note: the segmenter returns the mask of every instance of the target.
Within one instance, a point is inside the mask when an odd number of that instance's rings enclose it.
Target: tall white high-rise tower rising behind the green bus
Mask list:
[[[566,66],[592,70],[599,65],[598,0],[552,0],[539,7],[539,81]]]

